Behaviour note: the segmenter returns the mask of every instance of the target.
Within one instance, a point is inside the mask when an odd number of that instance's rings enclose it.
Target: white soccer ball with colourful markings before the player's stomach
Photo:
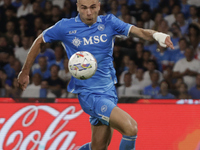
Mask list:
[[[68,68],[72,76],[80,80],[86,80],[95,74],[97,61],[91,53],[80,51],[70,57]]]

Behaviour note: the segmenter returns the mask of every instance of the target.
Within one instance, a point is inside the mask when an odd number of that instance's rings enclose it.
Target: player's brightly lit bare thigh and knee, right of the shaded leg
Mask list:
[[[110,114],[110,126],[127,136],[134,136],[138,131],[137,122],[119,107],[114,107]]]

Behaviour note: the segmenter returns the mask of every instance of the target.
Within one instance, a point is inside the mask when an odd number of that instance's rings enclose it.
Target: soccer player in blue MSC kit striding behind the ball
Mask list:
[[[123,137],[120,150],[135,149],[137,123],[125,111],[117,107],[115,70],[113,67],[113,45],[115,35],[137,36],[148,41],[156,40],[161,46],[173,49],[169,35],[153,30],[141,29],[117,19],[114,15],[98,16],[99,0],[77,0],[78,16],[62,19],[54,26],[43,31],[33,42],[18,83],[25,90],[29,83],[30,68],[40,52],[40,44],[62,41],[70,58],[77,51],[88,51],[94,55],[98,69],[87,80],[72,77],[68,90],[78,93],[82,109],[90,115],[92,141],[80,150],[107,149],[113,129]]]

